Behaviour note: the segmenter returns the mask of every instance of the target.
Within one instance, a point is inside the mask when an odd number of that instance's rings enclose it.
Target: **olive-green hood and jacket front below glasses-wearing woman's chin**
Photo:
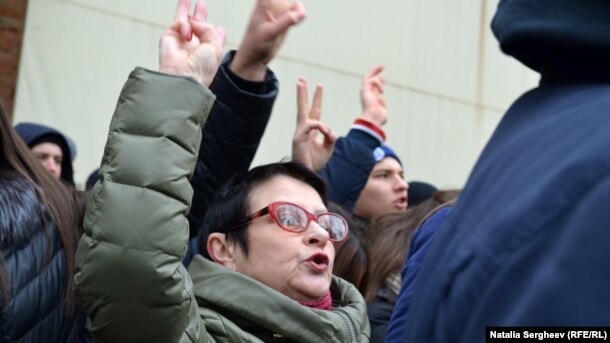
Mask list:
[[[189,267],[206,330],[215,341],[368,342],[366,304],[333,277],[333,310],[303,306],[264,284],[197,255]]]

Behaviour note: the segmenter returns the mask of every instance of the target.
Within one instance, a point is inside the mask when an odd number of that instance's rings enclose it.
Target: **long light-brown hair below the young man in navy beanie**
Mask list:
[[[376,218],[369,227],[371,244],[368,249],[369,266],[364,299],[373,301],[386,278],[400,272],[409,252],[413,232],[439,206],[454,201],[457,190],[439,191],[405,212],[388,213]]]

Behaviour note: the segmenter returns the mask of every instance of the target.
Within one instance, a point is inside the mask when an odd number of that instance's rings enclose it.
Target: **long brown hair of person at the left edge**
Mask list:
[[[0,104],[0,169],[14,171],[25,178],[35,189],[38,200],[46,209],[45,220],[57,227],[66,258],[66,304],[67,310],[75,307],[73,293],[74,259],[81,234],[83,208],[79,206],[81,195],[47,172],[36,160],[28,146],[15,132],[4,107]],[[82,202],[80,203],[82,206]],[[47,225],[43,225],[46,230]],[[50,249],[50,248],[49,248]],[[2,256],[0,256],[0,259]],[[0,288],[8,298],[9,273],[4,261],[0,261]]]

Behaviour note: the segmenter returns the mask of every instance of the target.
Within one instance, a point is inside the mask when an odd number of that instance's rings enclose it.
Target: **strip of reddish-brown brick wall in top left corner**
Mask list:
[[[0,102],[10,118],[27,4],[27,0],[0,0]]]

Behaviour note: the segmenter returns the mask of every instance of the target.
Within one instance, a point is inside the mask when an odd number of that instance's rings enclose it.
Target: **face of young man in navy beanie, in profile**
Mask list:
[[[386,157],[369,174],[354,206],[354,214],[373,220],[388,212],[404,211],[408,206],[408,189],[400,163]]]

